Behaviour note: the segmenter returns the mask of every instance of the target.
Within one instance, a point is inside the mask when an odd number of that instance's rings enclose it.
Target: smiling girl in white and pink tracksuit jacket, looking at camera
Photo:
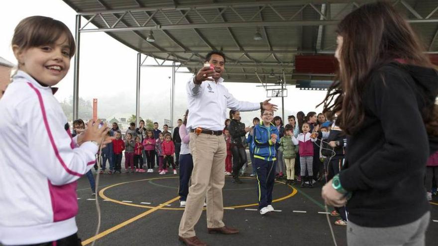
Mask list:
[[[44,16],[21,20],[12,50],[18,71],[0,103],[0,244],[79,246],[76,180],[109,143],[108,129],[90,121],[72,139],[53,96],[51,86],[65,77],[75,53],[64,23]]]

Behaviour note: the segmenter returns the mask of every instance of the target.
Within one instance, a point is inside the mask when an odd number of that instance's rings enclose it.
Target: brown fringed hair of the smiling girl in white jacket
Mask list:
[[[46,16],[30,16],[22,19],[15,27],[12,45],[29,49],[42,45],[55,44],[65,34],[69,45],[69,56],[75,54],[75,39],[70,29],[61,21]]]

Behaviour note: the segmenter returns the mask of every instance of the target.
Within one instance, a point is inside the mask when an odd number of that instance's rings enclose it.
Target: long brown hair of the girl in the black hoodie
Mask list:
[[[345,16],[336,32],[343,38],[340,69],[321,104],[328,119],[338,113],[336,123],[348,135],[365,118],[362,93],[372,72],[395,59],[436,69],[411,26],[388,2],[362,5]],[[437,124],[438,110],[433,107],[422,115],[428,133],[438,135],[438,127],[432,126]]]

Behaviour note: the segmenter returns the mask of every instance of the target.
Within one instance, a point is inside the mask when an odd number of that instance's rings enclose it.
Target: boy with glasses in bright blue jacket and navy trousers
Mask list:
[[[274,189],[278,129],[271,123],[274,113],[261,110],[262,122],[254,127],[254,164],[257,177],[258,207],[264,215],[274,211],[272,207],[272,190]]]

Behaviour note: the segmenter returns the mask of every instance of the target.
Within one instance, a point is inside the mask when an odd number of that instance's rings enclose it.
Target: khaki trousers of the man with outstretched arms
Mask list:
[[[220,228],[224,224],[222,187],[225,183],[226,144],[222,135],[190,133],[193,157],[192,185],[179,227],[179,236],[196,236],[195,225],[201,217],[207,193],[207,227]]]

